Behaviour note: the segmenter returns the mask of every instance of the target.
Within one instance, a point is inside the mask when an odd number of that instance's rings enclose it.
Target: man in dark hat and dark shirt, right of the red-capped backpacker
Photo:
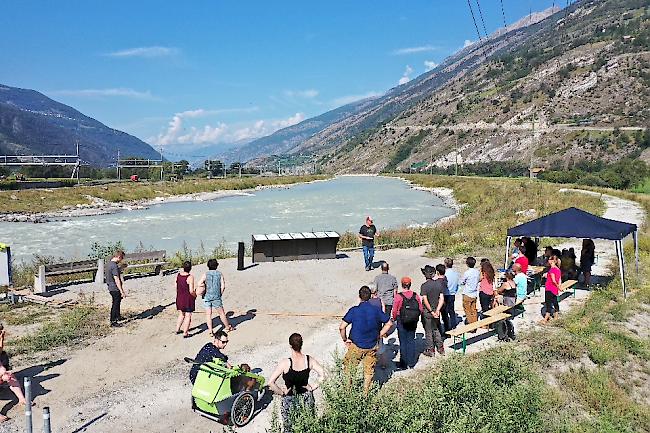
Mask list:
[[[422,297],[422,324],[424,325],[424,337],[426,348],[422,352],[425,356],[435,355],[435,350],[441,355],[445,353],[442,334],[440,333],[440,310],[445,304],[444,291],[447,288],[445,279],[445,265],[437,265],[435,268],[426,265],[421,269],[426,281],[420,287]],[[435,348],[434,348],[435,346]]]

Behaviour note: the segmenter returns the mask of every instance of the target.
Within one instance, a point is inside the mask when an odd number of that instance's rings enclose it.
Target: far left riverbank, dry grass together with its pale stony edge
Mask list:
[[[112,214],[152,205],[209,201],[250,195],[267,188],[319,182],[329,176],[283,176],[243,179],[188,179],[179,182],[122,182],[104,186],[0,191],[0,222],[45,223]]]

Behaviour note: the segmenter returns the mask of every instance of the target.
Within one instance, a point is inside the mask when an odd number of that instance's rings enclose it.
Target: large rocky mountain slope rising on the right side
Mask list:
[[[520,20],[287,153],[316,155],[330,172],[638,156],[650,119],[648,5],[583,0]]]

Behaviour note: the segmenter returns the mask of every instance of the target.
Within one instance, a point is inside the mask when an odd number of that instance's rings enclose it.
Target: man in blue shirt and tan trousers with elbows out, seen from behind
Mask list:
[[[372,377],[377,364],[377,348],[380,338],[384,338],[393,326],[392,320],[380,308],[370,304],[370,288],[359,289],[359,305],[348,310],[343,316],[339,332],[348,348],[343,365],[349,373],[352,368],[363,362],[363,384],[366,392],[370,389]],[[352,325],[350,335],[347,328]]]

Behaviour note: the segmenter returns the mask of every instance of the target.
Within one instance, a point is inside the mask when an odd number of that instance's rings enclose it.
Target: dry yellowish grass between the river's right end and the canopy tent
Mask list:
[[[458,217],[435,227],[380,231],[380,244],[393,248],[429,245],[430,255],[476,254],[493,257],[501,254],[506,231],[528,218],[519,211],[534,209],[546,215],[571,206],[601,214],[603,203],[596,197],[560,193],[566,185],[529,179],[407,175],[407,180],[428,188],[445,187],[454,191],[463,204]],[[356,233],[345,233],[340,248],[360,246]],[[497,255],[497,257],[499,257]]]

